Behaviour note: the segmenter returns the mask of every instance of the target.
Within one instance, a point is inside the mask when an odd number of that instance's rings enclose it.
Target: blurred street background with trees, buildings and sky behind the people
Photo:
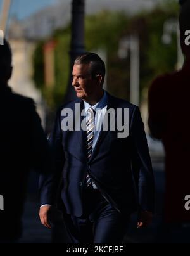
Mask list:
[[[179,70],[177,0],[0,0],[1,25],[13,50],[16,93],[34,99],[47,133],[54,113],[71,99],[70,67],[82,51],[98,53],[106,63],[105,89],[139,105],[146,126],[156,181],[156,214],[148,229],[132,222],[126,243],[151,243],[162,221],[164,151],[149,136],[147,96],[158,75]],[[49,243],[52,234],[41,226],[37,177],[31,174],[21,243]],[[135,220],[135,217],[134,217]]]

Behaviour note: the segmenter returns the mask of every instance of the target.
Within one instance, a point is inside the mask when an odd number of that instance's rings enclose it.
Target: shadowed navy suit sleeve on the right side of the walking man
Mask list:
[[[144,124],[136,107],[131,120],[132,172],[137,188],[138,205],[141,210],[154,211],[155,182]]]

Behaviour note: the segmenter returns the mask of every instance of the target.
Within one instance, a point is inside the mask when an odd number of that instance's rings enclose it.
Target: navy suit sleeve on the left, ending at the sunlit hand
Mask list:
[[[56,192],[61,182],[61,172],[65,163],[65,155],[62,146],[60,116],[60,111],[58,110],[54,129],[49,138],[51,172],[49,174],[42,174],[39,178],[40,205],[53,205],[55,203]]]

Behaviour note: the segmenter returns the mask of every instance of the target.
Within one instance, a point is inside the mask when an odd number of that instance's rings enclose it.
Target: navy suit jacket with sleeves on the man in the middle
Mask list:
[[[118,131],[101,131],[90,159],[87,159],[83,131],[62,131],[61,111],[70,108],[75,113],[75,104],[81,110],[84,101],[77,99],[63,105],[57,112],[56,123],[49,139],[54,170],[40,178],[40,203],[54,204],[58,197],[68,214],[82,215],[82,188],[87,172],[119,212],[131,213],[141,207],[153,211],[154,179],[149,157],[144,124],[139,108],[108,94],[108,109],[129,108],[130,131],[127,138],[118,138]],[[60,182],[61,181],[61,182]]]

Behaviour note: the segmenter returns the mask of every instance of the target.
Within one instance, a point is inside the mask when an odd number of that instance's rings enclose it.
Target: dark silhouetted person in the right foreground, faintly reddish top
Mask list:
[[[190,194],[190,1],[181,1],[179,16],[181,48],[185,56],[182,70],[157,77],[149,88],[149,129],[162,139],[165,148],[165,212],[167,223],[190,221],[184,207]]]

